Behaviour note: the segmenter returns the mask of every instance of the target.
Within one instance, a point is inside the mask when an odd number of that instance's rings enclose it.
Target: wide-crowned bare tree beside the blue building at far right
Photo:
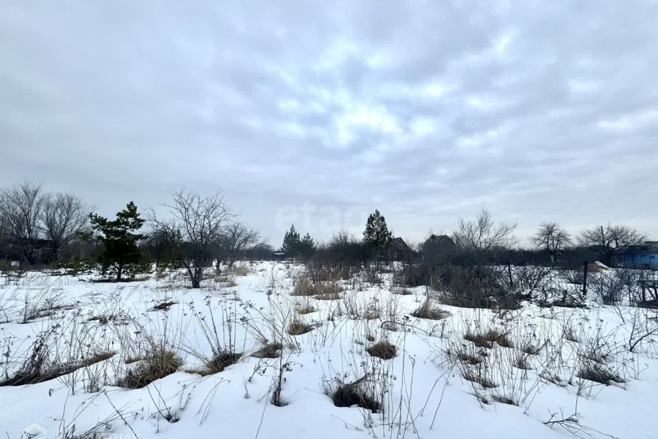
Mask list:
[[[578,237],[581,246],[592,248],[601,255],[605,263],[612,265],[613,257],[630,246],[642,244],[646,235],[629,226],[600,226],[583,230]]]

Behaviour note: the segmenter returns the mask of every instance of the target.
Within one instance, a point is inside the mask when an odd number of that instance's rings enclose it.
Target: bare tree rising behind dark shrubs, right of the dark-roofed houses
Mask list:
[[[491,213],[482,209],[475,219],[459,219],[459,230],[454,233],[455,244],[480,254],[497,247],[510,247],[517,243],[512,235],[516,224],[493,224]]]

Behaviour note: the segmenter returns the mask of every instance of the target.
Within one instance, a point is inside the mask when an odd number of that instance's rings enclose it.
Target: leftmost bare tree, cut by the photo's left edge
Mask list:
[[[4,218],[7,234],[29,263],[35,261],[34,244],[39,238],[43,202],[41,185],[33,182],[0,190],[0,216]]]

